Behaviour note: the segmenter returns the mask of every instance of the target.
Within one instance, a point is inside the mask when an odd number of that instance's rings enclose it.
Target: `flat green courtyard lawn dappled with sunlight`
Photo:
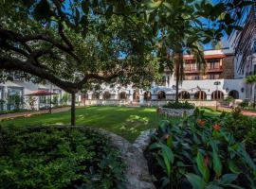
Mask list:
[[[85,107],[76,112],[78,126],[90,126],[107,129],[133,142],[142,130],[157,127],[162,118],[155,108],[129,107]],[[180,118],[172,118],[176,122]],[[29,118],[17,118],[0,123],[3,127],[27,127],[69,125],[70,112],[36,115]]]

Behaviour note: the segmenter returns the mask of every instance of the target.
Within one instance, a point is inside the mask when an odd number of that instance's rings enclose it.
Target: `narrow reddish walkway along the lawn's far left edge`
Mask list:
[[[70,110],[70,107],[57,108],[57,109],[52,109],[52,113],[66,112],[69,110]],[[31,115],[44,114],[48,112],[49,110],[42,110],[42,111],[35,111],[35,112],[14,112],[14,113],[2,114],[0,115],[0,121],[5,119],[17,118],[17,117],[29,117]]]

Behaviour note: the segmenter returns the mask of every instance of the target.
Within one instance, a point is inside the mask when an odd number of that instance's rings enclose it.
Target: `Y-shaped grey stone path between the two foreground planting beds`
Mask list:
[[[100,132],[109,137],[112,144],[119,148],[121,158],[127,165],[125,173],[127,189],[155,189],[142,151],[148,145],[152,131],[143,132],[133,145],[110,131],[100,129]]]

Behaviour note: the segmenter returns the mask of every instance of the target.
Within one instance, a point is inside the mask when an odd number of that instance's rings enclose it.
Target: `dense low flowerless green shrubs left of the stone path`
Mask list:
[[[4,129],[1,188],[121,188],[124,165],[87,129]]]

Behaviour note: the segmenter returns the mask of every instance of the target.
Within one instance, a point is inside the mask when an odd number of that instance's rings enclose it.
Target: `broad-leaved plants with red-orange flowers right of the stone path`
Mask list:
[[[235,140],[221,118],[202,112],[177,125],[161,121],[146,157],[158,188],[256,186],[256,165],[243,142]]]

